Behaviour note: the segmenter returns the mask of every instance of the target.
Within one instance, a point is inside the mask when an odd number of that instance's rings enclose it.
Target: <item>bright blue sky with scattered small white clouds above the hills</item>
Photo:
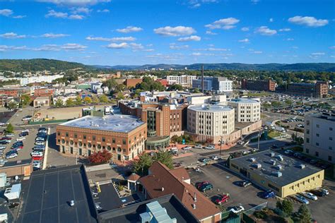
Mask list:
[[[0,1],[1,59],[335,62],[335,1]]]

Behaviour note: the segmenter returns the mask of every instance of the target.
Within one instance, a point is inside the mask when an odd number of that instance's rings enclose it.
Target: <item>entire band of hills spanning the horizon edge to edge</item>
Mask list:
[[[59,61],[54,59],[0,59],[0,71],[65,71],[74,68],[98,69],[98,70],[151,70],[170,68],[182,70],[199,70],[204,65],[205,70],[237,70],[237,71],[332,71],[335,72],[334,63],[300,63],[300,64],[145,64],[102,66]]]

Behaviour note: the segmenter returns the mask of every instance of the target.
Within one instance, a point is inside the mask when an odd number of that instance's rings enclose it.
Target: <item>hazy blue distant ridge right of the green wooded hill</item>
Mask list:
[[[238,70],[238,71],[335,71],[334,63],[300,63],[300,64],[146,64],[142,66],[108,66],[117,70],[151,70],[155,69],[184,69],[199,70],[204,65],[205,70]],[[104,68],[107,68],[105,66]]]

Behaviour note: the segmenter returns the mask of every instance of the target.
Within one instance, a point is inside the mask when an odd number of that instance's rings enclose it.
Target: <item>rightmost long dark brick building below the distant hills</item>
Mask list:
[[[328,95],[328,82],[317,81],[316,83],[291,83],[286,93],[306,97],[326,97]]]

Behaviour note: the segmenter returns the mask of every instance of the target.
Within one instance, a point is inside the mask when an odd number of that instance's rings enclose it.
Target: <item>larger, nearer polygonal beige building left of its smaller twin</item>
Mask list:
[[[187,130],[199,135],[201,141],[228,135],[235,130],[235,111],[218,104],[191,105],[187,108]]]

